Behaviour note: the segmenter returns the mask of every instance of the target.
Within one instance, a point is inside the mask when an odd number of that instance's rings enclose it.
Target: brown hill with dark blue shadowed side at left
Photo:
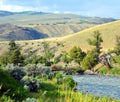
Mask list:
[[[19,27],[11,24],[0,25],[0,41],[4,40],[32,40],[45,38],[42,34],[32,28]]]

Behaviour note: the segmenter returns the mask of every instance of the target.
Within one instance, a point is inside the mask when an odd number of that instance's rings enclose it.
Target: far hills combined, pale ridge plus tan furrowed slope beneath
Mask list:
[[[0,24],[9,23],[19,27],[32,28],[38,33],[47,34],[48,37],[61,37],[74,34],[84,29],[115,20],[113,18],[87,17],[75,14],[0,11]],[[8,28],[4,29],[7,31]],[[11,32],[13,32],[12,29]]]

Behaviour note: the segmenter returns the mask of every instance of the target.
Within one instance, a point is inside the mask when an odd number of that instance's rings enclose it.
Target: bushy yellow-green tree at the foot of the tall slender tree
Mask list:
[[[94,51],[89,51],[82,61],[82,67],[84,70],[91,69],[96,63],[96,53]]]

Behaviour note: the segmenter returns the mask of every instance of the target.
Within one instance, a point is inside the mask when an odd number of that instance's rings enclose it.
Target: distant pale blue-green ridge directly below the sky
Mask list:
[[[4,16],[4,17],[3,17]],[[112,18],[87,17],[75,14],[53,14],[44,12],[7,12],[0,11],[0,24],[16,25],[36,24],[101,24],[115,21]]]

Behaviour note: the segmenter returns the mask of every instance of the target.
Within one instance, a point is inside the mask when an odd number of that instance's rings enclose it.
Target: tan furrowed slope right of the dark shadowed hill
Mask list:
[[[74,34],[86,28],[95,26],[94,24],[51,24],[37,25],[33,27],[36,31],[47,34],[49,37],[61,37]]]

